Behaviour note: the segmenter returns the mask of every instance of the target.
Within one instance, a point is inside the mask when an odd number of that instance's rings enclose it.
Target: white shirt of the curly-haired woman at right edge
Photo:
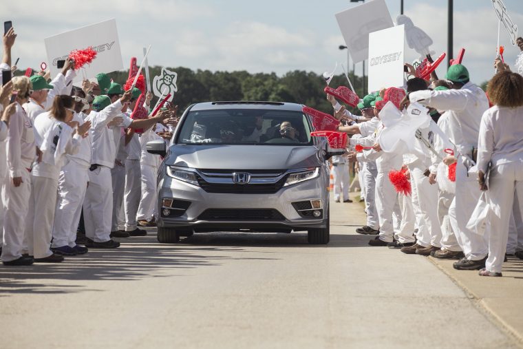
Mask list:
[[[481,118],[478,169],[523,162],[523,107],[491,107]]]

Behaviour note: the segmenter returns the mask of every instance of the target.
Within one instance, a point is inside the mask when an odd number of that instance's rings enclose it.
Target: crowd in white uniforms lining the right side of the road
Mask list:
[[[522,38],[517,45],[522,56]],[[496,59],[487,93],[471,82],[465,65],[451,65],[444,79],[432,73],[425,80],[406,64],[403,101],[390,98],[392,89],[369,94],[358,105],[363,120],[327,96],[334,117],[351,120],[338,129],[352,135],[346,157],[361,169],[367,213],[366,225],[356,231],[377,235],[370,246],[457,260],[454,268],[479,270],[482,276],[502,276],[507,255],[523,260],[521,63],[511,72]],[[380,139],[387,127],[380,114],[387,103],[399,111],[410,103],[428,109],[430,125],[407,140],[421,151],[383,151]],[[394,186],[390,175],[398,172],[410,192]]]

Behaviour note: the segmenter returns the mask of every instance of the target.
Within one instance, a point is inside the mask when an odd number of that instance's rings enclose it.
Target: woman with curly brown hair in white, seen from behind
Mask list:
[[[523,202],[523,77],[510,71],[496,74],[487,87],[493,107],[484,112],[478,145],[480,189],[489,189],[487,228],[489,257],[482,276],[502,276],[514,195]],[[487,185],[485,173],[490,169]],[[523,205],[520,204],[523,215]]]

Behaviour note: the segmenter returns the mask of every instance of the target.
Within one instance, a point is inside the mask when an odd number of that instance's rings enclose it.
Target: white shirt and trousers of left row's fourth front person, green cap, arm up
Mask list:
[[[94,242],[111,240],[111,220],[113,209],[113,187],[111,182],[111,168],[114,167],[113,131],[107,128],[114,117],[122,110],[120,100],[105,107],[101,112],[91,112],[86,121],[91,121],[90,133],[92,136],[92,164],[98,165],[94,171],[89,171],[89,187],[85,193],[83,204],[83,218],[85,235]],[[125,127],[131,125],[130,118],[124,118]]]

